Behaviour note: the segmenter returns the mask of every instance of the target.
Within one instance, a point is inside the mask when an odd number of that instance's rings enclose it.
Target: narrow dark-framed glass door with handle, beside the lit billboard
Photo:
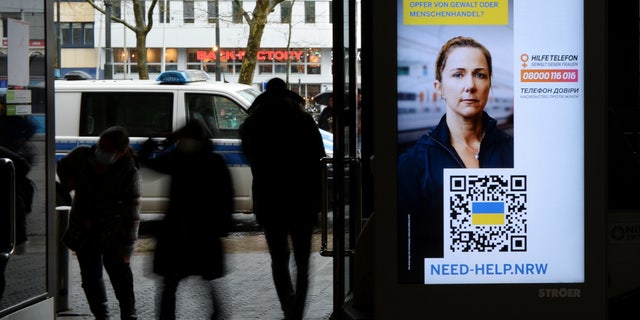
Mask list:
[[[342,319],[345,308],[359,298],[355,291],[362,284],[356,280],[356,248],[368,214],[363,215],[362,197],[360,1],[333,1],[332,5],[334,144],[333,157],[324,163],[329,200],[322,216],[321,254],[333,258],[333,314]]]

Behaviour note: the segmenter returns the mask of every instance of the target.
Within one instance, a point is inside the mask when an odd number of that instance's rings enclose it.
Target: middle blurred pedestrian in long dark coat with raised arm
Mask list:
[[[159,149],[170,151],[154,157]],[[213,151],[205,128],[191,121],[160,145],[148,139],[138,157],[143,165],[171,176],[169,208],[157,233],[153,271],[163,277],[159,319],[175,319],[176,290],[188,276],[204,280],[225,273],[220,237],[230,231],[233,186],[224,158]],[[211,281],[214,314],[227,317]]]

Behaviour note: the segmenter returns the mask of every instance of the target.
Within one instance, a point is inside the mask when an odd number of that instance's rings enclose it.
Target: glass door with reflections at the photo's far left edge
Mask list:
[[[0,318],[53,319],[47,66],[52,0],[0,2]],[[49,72],[51,71],[51,72]],[[48,90],[51,88],[51,90]],[[52,135],[51,135],[52,136]]]

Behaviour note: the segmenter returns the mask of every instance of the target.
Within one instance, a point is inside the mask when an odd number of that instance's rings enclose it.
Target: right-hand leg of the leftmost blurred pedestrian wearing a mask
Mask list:
[[[128,257],[109,250],[104,255],[104,267],[109,274],[113,291],[120,305],[120,319],[138,319],[136,296],[133,289],[133,272]]]

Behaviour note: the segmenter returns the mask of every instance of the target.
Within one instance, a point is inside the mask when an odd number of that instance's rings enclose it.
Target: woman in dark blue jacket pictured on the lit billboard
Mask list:
[[[409,226],[399,228],[402,282],[422,283],[424,258],[444,255],[443,169],[513,167],[513,137],[484,111],[492,71],[491,53],[473,38],[454,37],[438,53],[434,87],[446,113],[398,158],[398,214]]]

